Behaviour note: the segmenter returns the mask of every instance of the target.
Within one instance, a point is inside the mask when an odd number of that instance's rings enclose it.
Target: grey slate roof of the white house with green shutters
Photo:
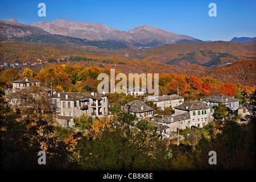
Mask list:
[[[180,110],[201,110],[201,109],[208,109],[210,106],[207,106],[204,102],[200,101],[190,101],[190,102],[184,102],[183,104],[174,107],[174,109],[180,109]]]

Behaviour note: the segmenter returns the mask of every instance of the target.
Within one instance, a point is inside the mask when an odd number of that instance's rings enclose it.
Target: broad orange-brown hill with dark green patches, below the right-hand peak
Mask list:
[[[150,48],[137,55],[138,59],[166,64],[197,64],[208,68],[256,57],[256,43],[208,42],[181,43]]]

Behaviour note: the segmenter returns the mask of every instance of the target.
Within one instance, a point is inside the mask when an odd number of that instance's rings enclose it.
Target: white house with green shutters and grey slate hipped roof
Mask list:
[[[185,102],[174,107],[174,109],[175,115],[187,113],[190,118],[187,125],[189,128],[191,126],[203,127],[207,125],[212,120],[214,112],[212,106],[200,101]]]

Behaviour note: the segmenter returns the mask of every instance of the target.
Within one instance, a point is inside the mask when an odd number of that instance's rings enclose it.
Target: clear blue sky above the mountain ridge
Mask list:
[[[46,17],[38,16],[38,4],[46,4]],[[210,17],[209,3],[216,3],[217,16]],[[231,40],[256,36],[256,1],[208,0],[0,0],[0,19],[20,23],[68,19],[104,23],[127,31],[143,24],[201,40]]]

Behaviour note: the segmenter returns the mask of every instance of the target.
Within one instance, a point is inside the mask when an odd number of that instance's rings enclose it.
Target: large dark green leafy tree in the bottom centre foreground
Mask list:
[[[118,112],[100,133],[94,130],[81,137],[76,146],[77,163],[84,170],[164,169],[167,145],[147,125],[134,125],[135,115]],[[100,122],[100,121],[98,121]],[[94,124],[93,124],[94,125]],[[98,124],[97,124],[98,125]],[[104,126],[102,125],[102,126]]]

